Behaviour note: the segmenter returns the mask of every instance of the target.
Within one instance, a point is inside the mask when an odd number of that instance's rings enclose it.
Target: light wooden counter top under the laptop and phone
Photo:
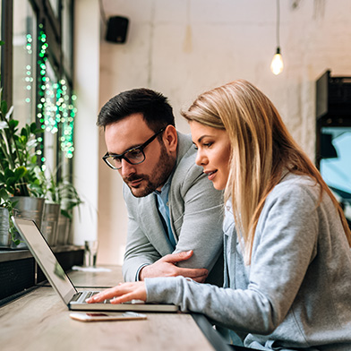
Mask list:
[[[111,287],[120,267],[69,273],[76,287]],[[74,321],[50,286],[38,287],[0,308],[0,349],[21,350],[214,350],[190,313],[146,312],[141,321]],[[226,348],[227,346],[224,345]]]

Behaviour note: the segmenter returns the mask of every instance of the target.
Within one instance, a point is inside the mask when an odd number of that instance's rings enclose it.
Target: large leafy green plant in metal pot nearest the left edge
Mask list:
[[[3,44],[4,42],[0,42],[0,45]],[[10,212],[13,208],[16,209],[18,216],[32,218],[40,227],[44,198],[36,147],[39,143],[37,134],[42,131],[35,123],[25,124],[20,130],[19,121],[12,118],[13,107],[8,108],[6,101],[3,100],[3,90],[0,90],[0,100],[2,207]],[[9,227],[13,229],[10,224]],[[18,244],[18,240],[19,237],[15,237],[13,244]],[[21,245],[17,245],[19,246]]]

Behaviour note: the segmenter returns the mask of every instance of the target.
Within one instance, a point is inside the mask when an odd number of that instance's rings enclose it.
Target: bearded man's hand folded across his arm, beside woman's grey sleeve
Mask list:
[[[209,274],[209,270],[203,268],[180,268],[176,266],[177,262],[186,261],[192,256],[193,250],[167,254],[155,263],[143,267],[139,272],[139,278],[140,280],[144,280],[144,278],[183,276],[192,278],[198,283],[203,283]]]

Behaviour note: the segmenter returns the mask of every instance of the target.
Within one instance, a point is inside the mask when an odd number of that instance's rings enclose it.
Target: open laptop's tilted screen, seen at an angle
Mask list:
[[[76,290],[35,222],[26,218],[13,218],[13,223],[28,244],[30,252],[39,263],[51,286],[61,295],[64,303],[68,304]]]

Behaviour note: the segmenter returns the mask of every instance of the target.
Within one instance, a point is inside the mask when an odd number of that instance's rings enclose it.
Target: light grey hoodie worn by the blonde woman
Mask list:
[[[261,350],[351,350],[351,252],[338,213],[308,177],[286,175],[265,201],[244,264],[230,202],[225,285],[146,279],[148,302],[180,305],[247,334]]]

